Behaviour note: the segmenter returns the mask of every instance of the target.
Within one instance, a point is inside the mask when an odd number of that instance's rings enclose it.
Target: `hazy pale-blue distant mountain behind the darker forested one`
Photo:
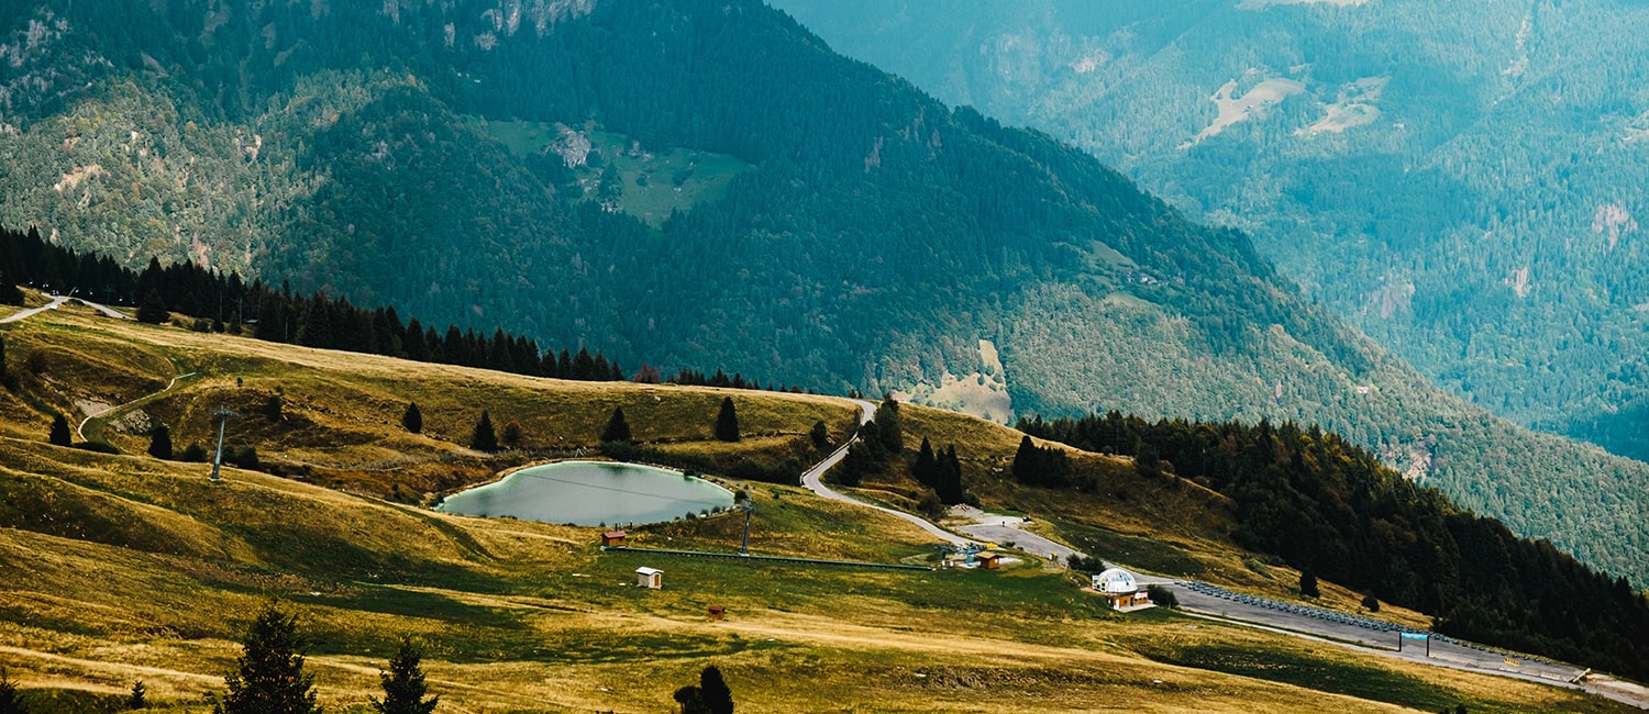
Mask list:
[[[1468,401],[1649,458],[1642,2],[777,5],[1250,231]]]

